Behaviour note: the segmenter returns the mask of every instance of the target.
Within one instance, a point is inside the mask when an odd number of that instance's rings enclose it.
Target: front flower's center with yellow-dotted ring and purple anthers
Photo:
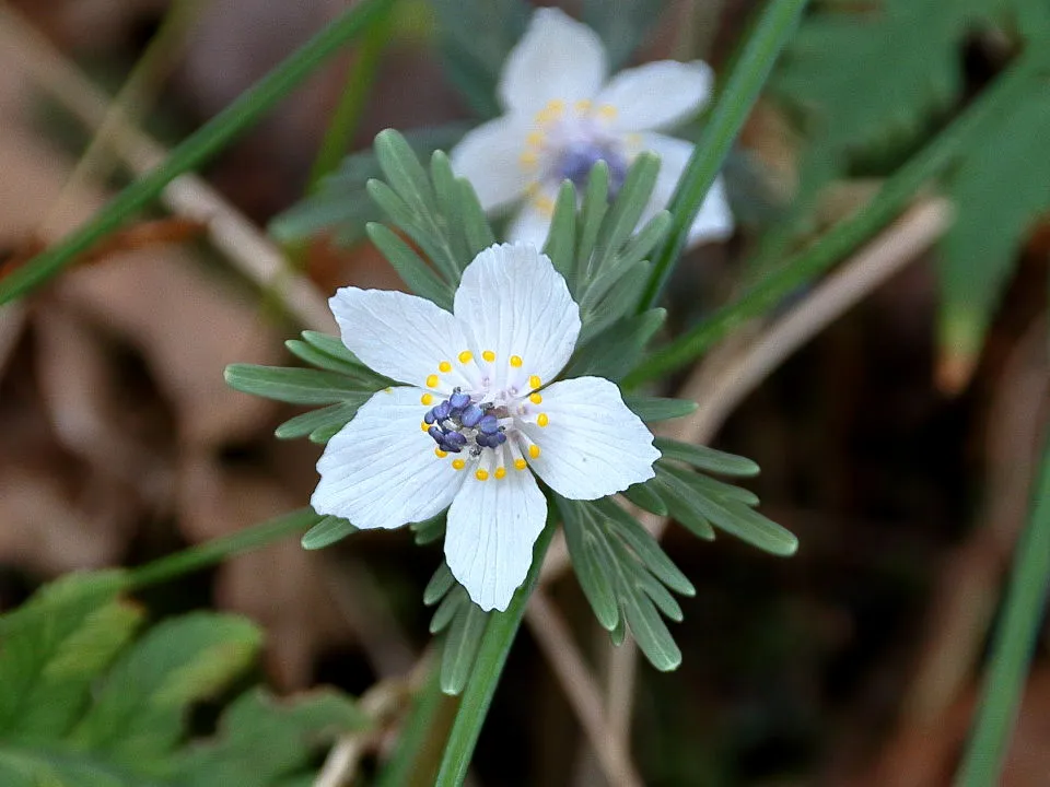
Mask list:
[[[438,364],[439,374],[428,376],[429,390],[420,397],[422,404],[432,406],[421,425],[436,444],[434,453],[440,458],[459,455],[452,460],[455,470],[463,470],[468,461],[475,463],[479,481],[502,479],[509,467],[524,470],[528,466],[525,457],[536,459],[540,449],[523,426],[550,423],[547,413],[538,411],[544,400],[538,390],[542,380],[526,373],[518,355],[504,362],[505,369],[499,368],[497,354],[489,350],[480,359],[464,350],[456,360],[458,365],[452,361]],[[465,384],[456,385],[456,379]],[[430,391],[444,398],[435,404],[438,397]]]

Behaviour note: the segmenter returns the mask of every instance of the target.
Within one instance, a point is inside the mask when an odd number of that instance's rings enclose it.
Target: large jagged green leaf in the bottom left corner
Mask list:
[[[366,724],[336,694],[278,704],[255,691],[185,745],[191,706],[244,672],[261,633],[199,612],[131,644],[142,611],[116,597],[121,584],[77,575],[0,616],[4,787],[287,787],[313,780],[319,743]]]

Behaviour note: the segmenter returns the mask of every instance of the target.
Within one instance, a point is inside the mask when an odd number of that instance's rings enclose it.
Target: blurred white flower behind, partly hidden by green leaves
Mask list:
[[[660,176],[642,222],[666,207],[692,145],[656,131],[707,103],[711,69],[700,61],[662,60],[606,78],[605,48],[594,31],[558,9],[533,14],[503,66],[499,97],[506,114],[467,133],[452,151],[453,168],[474,184],[486,211],[524,200],[509,239],[542,247],[562,181],[582,187],[599,160],[609,166],[615,192],[639,153],[658,154]],[[689,230],[689,242],[732,232],[720,177]]]

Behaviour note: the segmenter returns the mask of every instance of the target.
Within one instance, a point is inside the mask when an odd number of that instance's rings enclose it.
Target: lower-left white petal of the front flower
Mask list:
[[[317,462],[311,497],[318,514],[362,530],[422,521],[447,506],[463,484],[452,457],[434,454],[420,428],[428,408],[418,388],[381,390],[332,437]]]

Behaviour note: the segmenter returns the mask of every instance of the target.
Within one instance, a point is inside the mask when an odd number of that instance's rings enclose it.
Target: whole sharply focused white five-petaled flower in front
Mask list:
[[[311,500],[354,526],[396,528],[448,507],[445,559],[482,609],[525,579],[547,501],[533,477],[595,500],[653,477],[653,435],[609,380],[551,383],[580,333],[564,279],[532,246],[492,246],[463,273],[454,314],[345,287],[343,343],[404,387],[378,391],[325,448]]]

